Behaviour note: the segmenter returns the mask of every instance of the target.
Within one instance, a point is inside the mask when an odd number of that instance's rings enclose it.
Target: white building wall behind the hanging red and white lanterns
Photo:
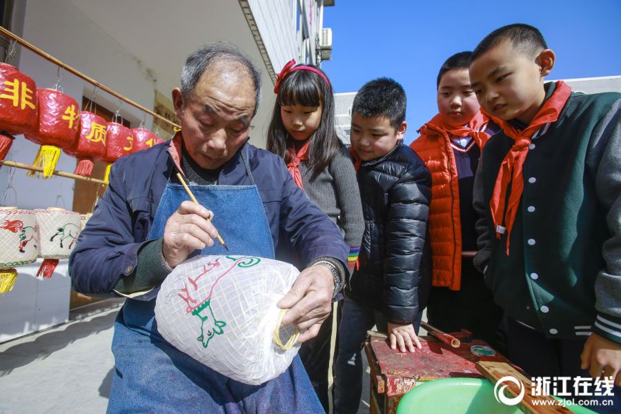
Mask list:
[[[112,90],[121,92],[146,108],[152,108],[155,88],[146,69],[70,1],[28,0],[22,17],[23,26],[22,21],[14,21],[13,24],[18,36]],[[14,19],[22,17],[19,12],[14,13]],[[9,60],[8,63],[34,79],[37,88],[51,88],[57,81],[57,66],[29,50],[22,48],[19,59]],[[80,105],[83,95],[92,94],[89,83],[68,72],[63,75],[62,86],[63,92]],[[158,88],[172,89],[161,84]],[[119,99],[101,91],[98,95],[97,101],[105,101],[107,104],[104,103],[104,106],[108,110],[114,112],[119,106]],[[121,114],[131,121],[132,128],[136,128],[142,118],[141,112],[127,103],[121,106]],[[147,128],[150,128],[150,122],[148,119]],[[6,159],[32,164],[38,149],[39,146],[19,135]],[[56,169],[73,172],[75,166],[76,159],[62,153]],[[2,189],[6,188],[9,170],[7,167],[0,169]],[[17,201],[10,193],[6,202],[7,205],[29,210],[47,208],[56,205],[60,193],[62,199],[58,206],[71,210],[74,183],[72,179],[61,177],[33,179],[26,177],[26,170],[15,170],[12,186],[17,192]],[[40,262],[41,259],[36,265],[17,268],[19,277],[13,290],[0,297],[0,315],[3,315],[0,320],[0,342],[68,320],[70,279],[67,261],[61,260],[52,278],[43,280],[35,277]]]

